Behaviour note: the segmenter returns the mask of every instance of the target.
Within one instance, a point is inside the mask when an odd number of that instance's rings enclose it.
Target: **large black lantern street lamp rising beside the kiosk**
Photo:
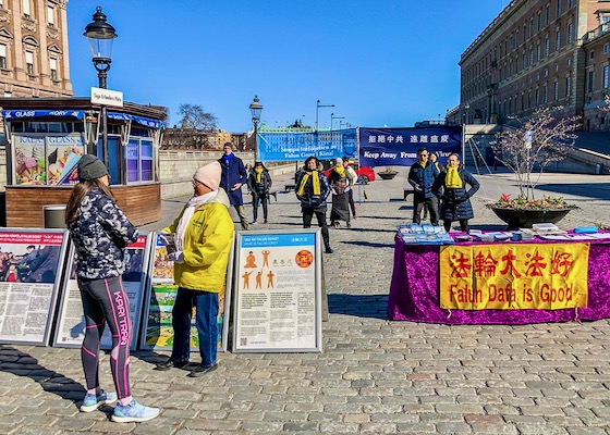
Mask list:
[[[106,15],[101,12],[101,7],[96,8],[96,13],[93,16],[94,21],[85,27],[84,36],[89,41],[89,49],[91,50],[91,60],[97,70],[97,77],[99,87],[106,89],[106,79],[110,63],[112,62],[112,41],[117,38],[114,27],[106,21]],[[108,162],[108,119],[106,115],[106,104],[100,107],[100,122],[101,122],[101,150],[102,159],[106,167],[109,167]],[[97,138],[96,138],[97,142]]]

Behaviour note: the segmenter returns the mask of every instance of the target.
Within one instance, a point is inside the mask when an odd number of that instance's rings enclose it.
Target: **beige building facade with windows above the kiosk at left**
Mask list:
[[[71,97],[68,0],[0,0],[0,97]]]

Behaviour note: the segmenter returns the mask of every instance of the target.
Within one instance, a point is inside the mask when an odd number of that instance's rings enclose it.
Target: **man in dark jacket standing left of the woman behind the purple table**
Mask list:
[[[436,164],[428,160],[428,150],[419,148],[417,150],[417,162],[408,171],[408,184],[413,186],[413,223],[422,223],[422,211],[428,207],[430,211],[430,222],[438,225],[438,197],[432,194],[439,170]]]

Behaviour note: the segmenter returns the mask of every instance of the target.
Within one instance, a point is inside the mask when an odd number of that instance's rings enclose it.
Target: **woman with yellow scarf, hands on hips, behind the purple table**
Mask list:
[[[466,185],[471,186],[466,190]],[[478,190],[479,184],[462,163],[457,154],[449,156],[447,167],[440,173],[432,186],[435,195],[443,188],[440,216],[444,229],[451,229],[451,222],[460,221],[460,228],[468,231],[468,219],[475,216],[471,197]]]

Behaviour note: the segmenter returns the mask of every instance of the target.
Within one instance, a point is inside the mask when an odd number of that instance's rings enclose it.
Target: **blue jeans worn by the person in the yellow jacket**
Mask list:
[[[195,324],[199,336],[199,353],[205,366],[216,364],[218,350],[218,294],[178,287],[172,310],[173,361],[191,357],[191,316],[195,307]]]

